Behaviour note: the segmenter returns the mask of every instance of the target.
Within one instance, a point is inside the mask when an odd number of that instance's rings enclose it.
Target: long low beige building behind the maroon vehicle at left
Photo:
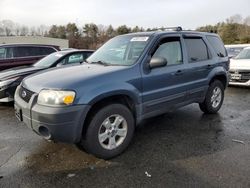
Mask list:
[[[41,37],[41,36],[8,36],[0,37],[0,44],[49,44],[60,46],[61,49],[69,47],[69,40]]]

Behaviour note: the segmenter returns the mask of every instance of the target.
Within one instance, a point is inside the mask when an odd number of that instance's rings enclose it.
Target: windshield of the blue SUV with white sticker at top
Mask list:
[[[140,57],[148,40],[149,36],[123,35],[115,37],[90,56],[87,62],[105,65],[133,65]]]

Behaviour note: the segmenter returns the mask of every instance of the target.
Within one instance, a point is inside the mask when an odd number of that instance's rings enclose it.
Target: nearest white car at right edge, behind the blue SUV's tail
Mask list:
[[[250,86],[250,47],[244,48],[230,59],[231,79],[229,85]]]

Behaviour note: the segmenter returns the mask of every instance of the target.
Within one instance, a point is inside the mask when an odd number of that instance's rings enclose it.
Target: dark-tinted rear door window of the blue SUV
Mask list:
[[[202,38],[184,38],[190,63],[209,59],[207,45]]]

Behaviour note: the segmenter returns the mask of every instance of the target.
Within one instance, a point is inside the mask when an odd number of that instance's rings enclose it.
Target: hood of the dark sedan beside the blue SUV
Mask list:
[[[29,75],[43,69],[44,68],[33,67],[33,66],[21,66],[21,67],[7,69],[0,72],[0,80],[7,80],[13,77]]]

